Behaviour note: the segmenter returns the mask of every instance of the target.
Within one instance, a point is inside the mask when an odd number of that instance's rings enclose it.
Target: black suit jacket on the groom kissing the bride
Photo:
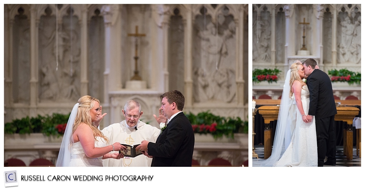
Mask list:
[[[307,85],[310,94],[308,115],[322,119],[337,114],[331,79],[325,72],[314,69],[307,77]]]

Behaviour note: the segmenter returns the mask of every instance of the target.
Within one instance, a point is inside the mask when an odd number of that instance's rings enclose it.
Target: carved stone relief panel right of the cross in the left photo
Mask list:
[[[195,53],[195,55],[200,58],[200,66],[193,68],[194,78],[197,81],[194,82],[196,102],[234,101],[235,23],[233,20],[220,17],[216,24],[209,22],[197,32],[200,54]]]

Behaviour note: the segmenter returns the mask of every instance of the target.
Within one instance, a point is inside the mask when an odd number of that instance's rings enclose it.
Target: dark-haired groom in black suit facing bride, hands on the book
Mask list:
[[[178,90],[164,93],[161,98],[162,115],[167,125],[156,143],[143,140],[140,149],[147,157],[153,157],[151,167],[191,167],[194,150],[194,131],[184,115],[185,98]]]

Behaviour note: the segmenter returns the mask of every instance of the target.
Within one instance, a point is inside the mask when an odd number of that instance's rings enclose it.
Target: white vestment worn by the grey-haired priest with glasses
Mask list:
[[[135,144],[141,144],[142,140],[156,142],[161,130],[142,121],[138,121],[136,130],[135,127],[129,127],[126,120],[124,120],[120,123],[114,123],[105,127],[101,132],[108,137],[109,145],[119,142],[133,146]],[[115,153],[115,151],[111,153]],[[104,159],[103,165],[104,167],[150,167],[151,162],[152,158],[147,158],[142,154],[134,158]]]

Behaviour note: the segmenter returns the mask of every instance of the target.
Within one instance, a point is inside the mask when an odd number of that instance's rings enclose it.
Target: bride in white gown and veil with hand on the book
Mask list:
[[[101,115],[100,101],[94,97],[83,96],[78,99],[67,122],[57,167],[102,167],[102,159],[123,158],[123,154],[109,152],[126,147],[119,142],[107,146],[108,138],[92,124],[105,115]]]

